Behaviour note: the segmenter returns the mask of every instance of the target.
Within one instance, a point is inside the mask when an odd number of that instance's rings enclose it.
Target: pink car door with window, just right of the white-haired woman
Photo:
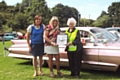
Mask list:
[[[84,39],[83,68],[98,69],[98,47],[94,45],[95,39],[88,31],[80,30],[81,40]]]

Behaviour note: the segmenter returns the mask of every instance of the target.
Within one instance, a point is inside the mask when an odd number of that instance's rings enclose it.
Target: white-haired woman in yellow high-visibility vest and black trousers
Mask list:
[[[69,28],[66,30],[68,35],[68,43],[66,51],[68,54],[69,67],[71,70],[70,76],[76,76],[80,78],[81,61],[83,55],[83,45],[80,40],[80,32],[76,26],[76,20],[74,18],[69,18],[67,21]]]

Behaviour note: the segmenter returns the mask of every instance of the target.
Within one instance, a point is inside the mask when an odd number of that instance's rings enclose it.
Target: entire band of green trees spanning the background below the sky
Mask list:
[[[67,26],[66,23],[70,17],[74,17],[77,22],[80,21],[80,26],[120,26],[120,2],[113,2],[108,7],[108,12],[102,11],[101,15],[94,21],[92,19],[78,20],[78,10],[74,7],[57,4],[50,9],[45,0],[22,0],[22,3],[17,3],[16,6],[8,6],[5,1],[0,2],[0,30],[5,28],[3,26],[8,26],[12,30],[26,31],[28,25],[33,23],[36,14],[43,17],[45,25],[49,23],[52,16],[57,16],[60,27]]]

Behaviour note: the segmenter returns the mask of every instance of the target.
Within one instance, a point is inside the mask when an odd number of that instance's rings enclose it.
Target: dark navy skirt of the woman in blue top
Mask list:
[[[44,55],[44,44],[31,44],[32,51],[30,52],[33,56]]]

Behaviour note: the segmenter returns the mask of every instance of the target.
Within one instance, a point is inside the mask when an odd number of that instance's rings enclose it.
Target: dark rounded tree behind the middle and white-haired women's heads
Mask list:
[[[68,18],[75,18],[78,21],[78,11],[77,9],[69,6],[64,6],[62,4],[57,4],[52,8],[52,16],[57,16],[59,18],[60,26],[67,26]]]

